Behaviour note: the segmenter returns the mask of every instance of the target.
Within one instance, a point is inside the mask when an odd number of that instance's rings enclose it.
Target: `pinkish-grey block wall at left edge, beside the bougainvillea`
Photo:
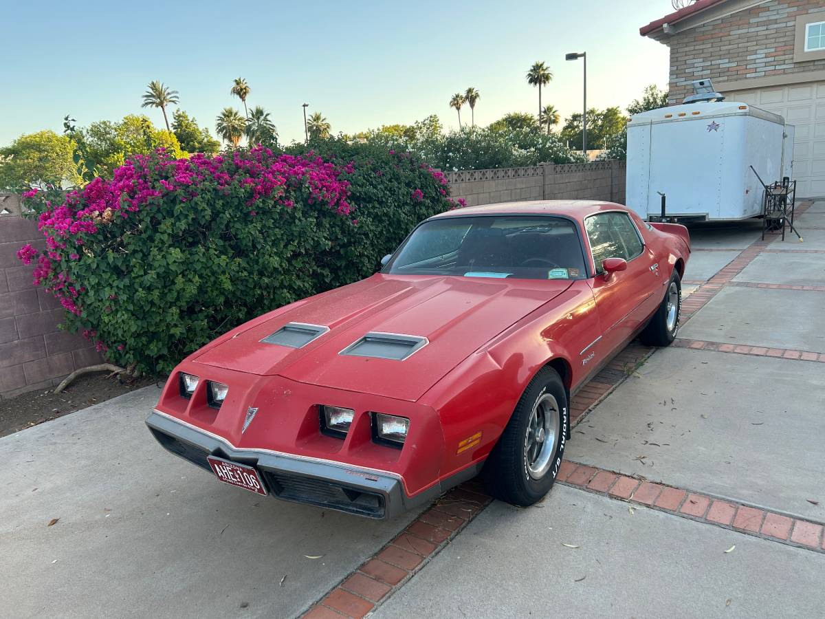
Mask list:
[[[58,329],[64,309],[34,286],[34,265],[17,259],[26,243],[45,248],[35,221],[21,217],[19,196],[0,193],[0,399],[48,389],[101,361],[88,340]]]

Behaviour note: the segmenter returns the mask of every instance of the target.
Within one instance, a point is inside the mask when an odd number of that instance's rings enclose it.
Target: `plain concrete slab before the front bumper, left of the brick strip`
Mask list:
[[[373,522],[220,484],[149,435],[158,393],[0,438],[0,616],[291,617],[415,515]]]

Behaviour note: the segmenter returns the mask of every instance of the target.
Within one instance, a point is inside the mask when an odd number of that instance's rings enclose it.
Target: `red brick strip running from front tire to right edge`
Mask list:
[[[562,462],[556,481],[675,516],[707,522],[806,550],[825,552],[825,527],[821,522],[786,516],[747,503],[715,499],[708,494],[694,493],[576,462]]]

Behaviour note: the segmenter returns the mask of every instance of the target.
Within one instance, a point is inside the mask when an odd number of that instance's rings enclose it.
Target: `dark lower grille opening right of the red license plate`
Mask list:
[[[262,470],[266,485],[278,499],[338,509],[359,516],[384,517],[384,496],[325,480]]]

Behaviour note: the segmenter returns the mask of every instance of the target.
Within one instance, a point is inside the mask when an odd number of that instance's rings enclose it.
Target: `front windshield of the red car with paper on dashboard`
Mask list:
[[[534,280],[587,276],[572,221],[524,215],[427,221],[415,229],[384,272]]]

